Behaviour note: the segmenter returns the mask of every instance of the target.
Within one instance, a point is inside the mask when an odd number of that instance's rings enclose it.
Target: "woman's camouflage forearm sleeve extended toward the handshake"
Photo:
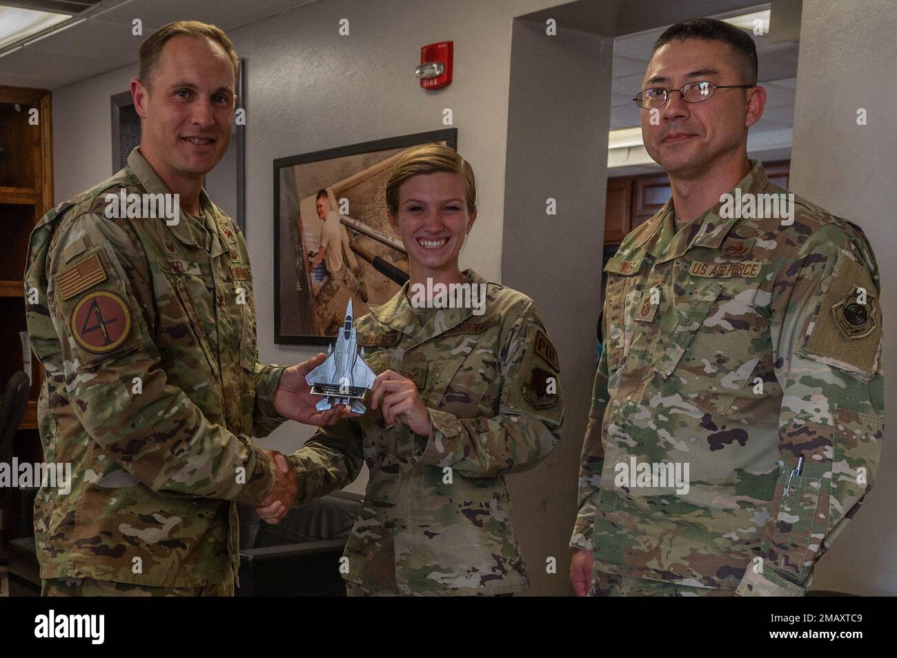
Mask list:
[[[309,503],[335,489],[343,489],[361,472],[361,427],[358,420],[344,419],[315,435],[287,457],[296,472],[299,492],[293,506]]]

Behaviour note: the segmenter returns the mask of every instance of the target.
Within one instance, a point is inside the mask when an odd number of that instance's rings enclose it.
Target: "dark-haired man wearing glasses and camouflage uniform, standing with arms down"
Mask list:
[[[803,595],[875,481],[875,256],[748,160],[756,82],[753,40],[700,19],[660,36],[634,99],[673,197],[605,267],[579,595]]]

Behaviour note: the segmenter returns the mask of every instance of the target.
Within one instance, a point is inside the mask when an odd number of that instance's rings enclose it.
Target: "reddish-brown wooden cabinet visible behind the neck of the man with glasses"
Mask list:
[[[763,163],[771,183],[786,189],[790,167],[789,160]],[[632,229],[657,214],[672,195],[666,173],[608,178],[605,245],[619,245]]]

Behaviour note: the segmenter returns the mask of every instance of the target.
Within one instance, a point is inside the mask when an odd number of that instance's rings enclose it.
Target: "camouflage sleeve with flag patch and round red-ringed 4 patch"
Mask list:
[[[86,212],[55,236],[48,313],[71,408],[103,451],[153,491],[260,504],[274,463],[249,437],[207,420],[160,368],[152,277],[126,222]],[[102,329],[100,345],[85,340],[91,322],[118,325],[114,334]]]

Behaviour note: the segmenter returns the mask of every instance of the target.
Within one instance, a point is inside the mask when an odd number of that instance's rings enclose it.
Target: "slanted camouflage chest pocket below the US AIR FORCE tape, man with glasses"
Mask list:
[[[715,281],[699,290],[654,368],[669,394],[701,411],[729,411],[769,342],[768,321],[739,297]]]

